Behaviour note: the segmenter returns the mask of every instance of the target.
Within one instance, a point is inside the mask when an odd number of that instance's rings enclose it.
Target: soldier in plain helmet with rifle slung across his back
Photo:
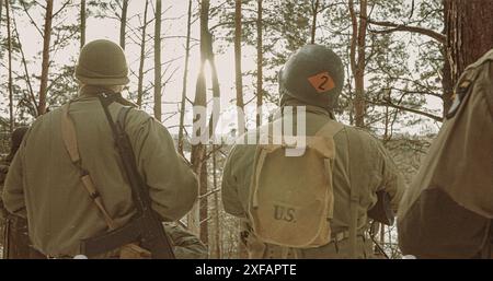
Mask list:
[[[50,258],[81,254],[82,239],[105,234],[112,229],[110,221],[126,225],[136,214],[110,118],[100,102],[102,96],[115,97],[106,108],[116,120],[124,106],[114,93],[129,82],[123,49],[108,40],[89,43],[81,50],[76,79],[78,97],[41,116],[27,131],[3,192],[9,212],[27,218],[33,247]],[[72,127],[67,127],[68,120]],[[197,179],[170,133],[135,108],[123,126],[153,211],[162,221],[182,218],[197,198]],[[91,192],[88,176],[96,188]]]

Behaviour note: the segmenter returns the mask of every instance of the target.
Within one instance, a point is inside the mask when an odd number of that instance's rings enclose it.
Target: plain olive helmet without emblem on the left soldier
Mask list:
[[[76,79],[87,85],[125,85],[128,66],[124,50],[111,40],[87,44],[80,51]]]

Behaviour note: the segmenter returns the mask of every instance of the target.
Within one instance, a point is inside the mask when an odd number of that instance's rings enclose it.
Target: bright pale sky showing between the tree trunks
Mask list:
[[[184,36],[186,35],[186,12],[187,12],[187,3],[188,1],[184,0],[171,0],[171,1],[163,1],[163,11],[165,11],[163,15],[163,25],[162,25],[162,34],[165,36],[162,43],[162,61],[169,61],[173,60],[173,62],[170,65],[169,71],[164,73],[163,80],[168,79],[169,73],[173,72],[175,70],[174,75],[170,80],[170,82],[163,87],[163,124],[170,129],[170,131],[175,132],[177,130],[177,124],[179,124],[179,115],[177,108],[180,106],[179,102],[181,99],[181,93],[182,93],[182,81],[183,81],[183,65],[184,65],[184,56],[185,56],[185,39]],[[196,9],[196,2],[194,2],[194,9]],[[220,1],[213,0],[213,5]],[[139,27],[140,22],[139,17],[136,16],[138,13],[144,13],[144,1],[129,1],[129,25],[133,28]],[[55,8],[54,10],[58,10],[60,8],[61,1],[55,1]],[[153,13],[153,7],[149,7],[149,17],[152,19]],[[66,15],[64,15],[64,19],[61,21],[78,21],[78,9],[71,9],[71,12],[68,12]],[[32,11],[33,19],[35,19],[36,24],[39,26],[43,26],[43,11],[42,9],[36,9]],[[26,54],[27,58],[34,57],[37,52],[42,50],[42,36],[36,31],[33,24],[31,24],[27,20],[25,14],[20,11],[18,15],[18,25],[21,36],[21,43],[24,47],[24,51]],[[210,22],[210,25],[214,25],[214,19]],[[0,27],[0,30],[2,30]],[[133,43],[133,38],[136,39],[136,37],[133,35],[131,28],[128,31],[127,38],[127,47],[126,47],[126,55],[127,60],[129,63],[130,69],[134,72],[137,72],[138,70],[138,63],[140,58],[140,47],[137,46],[137,44]],[[151,23],[148,26],[148,34],[153,33],[153,23]],[[139,35],[140,36],[140,35]],[[192,37],[198,38],[199,37],[199,25],[198,22],[196,22],[192,27]],[[113,19],[96,19],[95,16],[90,16],[87,20],[87,42],[93,40],[93,39],[100,39],[100,38],[106,38],[111,39],[115,43],[118,43],[119,40],[119,23],[116,20]],[[198,54],[198,45],[196,40],[193,40],[192,43],[194,45],[192,51],[191,51],[191,60],[190,60],[190,72],[188,72],[188,83],[187,83],[187,97],[193,101],[194,92],[195,92],[195,81],[198,74],[198,67],[199,66],[199,54]],[[148,43],[148,46],[152,47],[152,42]],[[146,69],[150,69],[153,66],[153,57],[151,49],[148,49],[150,51],[149,57],[146,61]],[[59,51],[57,54],[54,54],[53,59],[55,59],[59,63],[70,63],[73,65],[73,59],[77,58],[79,52],[79,46],[78,44],[74,44],[72,46],[67,47],[62,51]],[[410,52],[415,52],[415,50],[410,50]],[[256,69],[256,50],[253,47],[243,47],[242,50],[243,58],[242,58],[242,70],[243,72],[253,71]],[[412,58],[410,60],[410,63],[413,62],[415,59],[415,54],[412,55]],[[236,108],[234,108],[234,102],[231,102],[236,97],[236,90],[234,90],[234,49],[233,44],[230,44],[228,47],[223,49],[222,54],[218,54],[216,56],[216,66],[220,82],[220,90],[221,90],[221,113],[222,113],[222,120],[223,120],[223,128],[222,132],[229,131],[231,126],[236,126]],[[167,67],[163,67],[163,71]],[[0,70],[4,71],[4,70]],[[276,71],[276,70],[275,70]],[[30,72],[38,74],[41,73],[41,63],[32,63],[30,65]],[[208,78],[210,75],[207,75]],[[130,91],[136,92],[136,84],[137,84],[137,78],[131,77],[130,78]],[[153,71],[149,71],[149,73],[146,75],[147,81],[153,81]],[[245,77],[243,79],[244,85],[251,85],[253,81],[250,80],[249,77]],[[210,85],[210,82],[208,83]],[[35,87],[37,89],[37,86]],[[273,87],[275,89],[275,87]],[[245,101],[250,99],[253,96],[253,92],[251,87],[245,87]],[[151,90],[152,93],[152,90]],[[125,95],[125,94],[124,94]],[[150,99],[152,99],[151,96],[149,96]],[[7,103],[3,101],[3,106],[7,106]],[[436,99],[429,99],[428,101],[428,108],[440,108],[439,101]],[[275,105],[270,105],[267,110],[273,109]],[[145,108],[147,112],[151,113],[151,105],[147,105]],[[254,118],[252,113],[255,112],[254,103],[249,105],[246,107],[246,112],[250,113],[252,118],[250,118],[250,122],[248,124],[248,127],[254,127]],[[192,124],[192,114],[191,114],[191,105],[187,103],[187,115],[186,115],[186,124]],[[405,128],[406,131],[413,133],[417,132],[420,133],[422,130],[427,130],[429,127],[436,126],[433,122],[428,125],[419,125],[416,128]],[[423,129],[424,127],[424,129]],[[426,129],[427,128],[427,129]]]

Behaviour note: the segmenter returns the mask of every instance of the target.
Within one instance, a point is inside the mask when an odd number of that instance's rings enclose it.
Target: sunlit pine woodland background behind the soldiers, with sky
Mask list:
[[[200,177],[182,223],[211,258],[238,258],[239,222],[220,203],[229,148],[188,144],[192,106],[220,97],[222,132],[254,129],[267,121],[256,108],[276,107],[288,56],[324,44],[346,66],[337,119],[375,133],[409,182],[458,77],[493,47],[493,0],[0,0],[2,153],[13,128],[77,94],[79,49],[95,38],[126,50],[133,82],[124,95],[170,129]],[[394,258],[395,238],[393,227],[375,237]]]

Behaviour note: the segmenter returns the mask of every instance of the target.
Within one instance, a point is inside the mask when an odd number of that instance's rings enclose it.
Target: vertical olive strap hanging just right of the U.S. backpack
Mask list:
[[[362,165],[359,163],[364,162],[365,153],[362,150],[363,143],[362,138],[357,136],[357,140],[354,138],[347,138],[348,154],[349,154],[349,179],[351,179],[351,191],[349,191],[349,257],[357,258],[357,227],[358,227],[358,206],[359,206],[359,189],[356,183],[364,183],[365,180],[356,180],[357,175],[364,175],[360,173],[359,168]]]

